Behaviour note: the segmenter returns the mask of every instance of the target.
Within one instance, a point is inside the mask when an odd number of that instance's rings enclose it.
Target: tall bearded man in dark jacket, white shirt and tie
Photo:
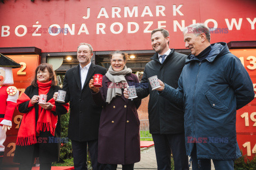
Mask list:
[[[171,152],[175,169],[189,169],[185,149],[183,110],[169,100],[165,100],[152,90],[148,78],[157,78],[167,82],[173,88],[178,87],[178,79],[185,65],[186,55],[174,52],[169,48],[169,32],[163,28],[151,32],[151,45],[156,51],[146,64],[140,87],[136,88],[137,96],[149,96],[148,118],[149,132],[152,134],[157,160],[157,169],[171,169]],[[127,90],[125,89],[127,98]]]

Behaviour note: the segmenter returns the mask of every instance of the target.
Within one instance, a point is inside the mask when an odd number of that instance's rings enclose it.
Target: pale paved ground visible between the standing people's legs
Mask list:
[[[122,165],[118,165],[117,169],[122,169]],[[157,169],[155,148],[150,147],[141,151],[141,160],[135,163],[134,169],[146,170],[146,169]],[[191,167],[189,169],[192,169]],[[211,170],[214,170],[212,163]]]

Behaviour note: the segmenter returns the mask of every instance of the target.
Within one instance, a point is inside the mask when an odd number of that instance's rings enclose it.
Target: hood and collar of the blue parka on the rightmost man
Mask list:
[[[215,58],[225,55],[227,53],[230,53],[227,43],[220,42],[220,43],[211,44],[211,46],[212,46],[212,50],[209,53],[209,55],[205,58],[205,60],[207,60],[210,63],[212,63],[215,60]],[[190,54],[187,56],[185,64],[188,64],[189,62],[193,62],[193,61],[200,61],[200,60],[196,56]]]

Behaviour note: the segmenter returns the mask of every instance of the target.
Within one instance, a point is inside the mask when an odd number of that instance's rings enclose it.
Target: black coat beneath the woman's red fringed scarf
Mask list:
[[[54,92],[61,90],[60,87],[54,86],[51,87],[49,92],[47,93],[46,102],[53,98]],[[34,86],[29,86],[25,90],[25,94],[31,99],[34,95],[38,95],[38,88]],[[20,113],[28,113],[32,107],[28,108],[29,101],[22,103],[19,105],[18,110]],[[17,163],[25,163],[28,160],[33,160],[35,157],[40,158],[40,163],[51,163],[51,162],[58,162],[60,156],[60,144],[66,142],[67,140],[60,140],[60,115],[66,114],[67,110],[61,104],[55,104],[56,112],[52,112],[54,115],[58,115],[58,122],[55,128],[54,139],[58,139],[58,141],[49,142],[49,137],[53,139],[53,136],[50,132],[40,132],[39,139],[37,137],[37,142],[35,145],[29,146],[16,146],[15,154],[14,154],[14,162]],[[38,104],[34,105],[36,114],[36,122],[38,119]],[[47,138],[47,140],[46,140]]]

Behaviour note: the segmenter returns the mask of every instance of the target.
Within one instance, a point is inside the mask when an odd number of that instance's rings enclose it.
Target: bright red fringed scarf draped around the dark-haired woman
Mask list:
[[[51,88],[51,82],[49,81],[47,83],[41,83],[37,81],[38,83],[38,93],[46,95],[47,92],[49,92]],[[17,100],[17,108],[21,103],[25,103],[26,101],[30,101],[31,99],[23,93],[19,99]],[[55,101],[53,98],[51,98],[47,103],[51,103],[55,105]],[[67,110],[68,110],[68,104],[65,104]],[[50,131],[51,134],[54,136],[55,128],[58,121],[58,116],[54,115],[50,110],[42,109],[39,106],[38,109],[38,120],[36,122],[36,116],[35,116],[35,107],[31,109],[28,113],[25,113],[22,117],[21,125],[18,132],[17,142],[16,145],[18,146],[27,146],[27,145],[33,145],[36,143],[36,133],[39,133],[40,131]],[[37,123],[37,124],[36,124]],[[35,128],[36,127],[36,128]]]

